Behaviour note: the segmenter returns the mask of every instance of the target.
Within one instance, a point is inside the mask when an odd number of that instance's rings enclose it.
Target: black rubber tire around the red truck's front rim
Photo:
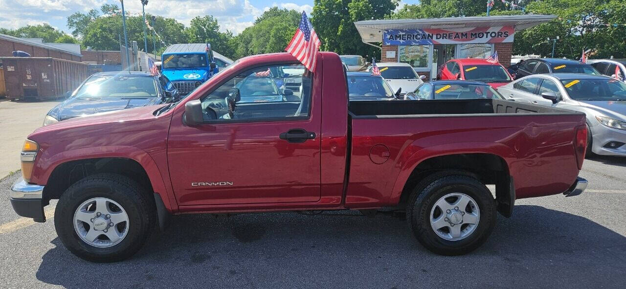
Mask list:
[[[128,233],[120,243],[108,248],[89,245],[74,230],[74,211],[83,202],[97,197],[120,204],[128,215]],[[56,233],[74,255],[93,262],[115,262],[140,250],[156,225],[156,208],[148,192],[125,176],[101,173],[88,176],[66,190],[54,211]]]

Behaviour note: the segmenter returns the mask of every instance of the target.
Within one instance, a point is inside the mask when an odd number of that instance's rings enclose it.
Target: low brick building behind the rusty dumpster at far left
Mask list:
[[[11,57],[13,51],[18,50],[29,53],[32,57],[51,57],[79,62],[82,57],[73,49],[55,46],[54,43],[48,44],[42,43],[38,39],[24,39],[0,34],[0,57]]]

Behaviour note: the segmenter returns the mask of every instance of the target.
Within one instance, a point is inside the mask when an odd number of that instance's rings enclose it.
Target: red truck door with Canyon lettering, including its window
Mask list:
[[[277,66],[300,71],[302,92],[273,83]],[[204,124],[175,115],[167,155],[178,205],[318,201],[321,108],[312,104],[321,95],[312,80],[300,64],[237,71],[200,98]]]

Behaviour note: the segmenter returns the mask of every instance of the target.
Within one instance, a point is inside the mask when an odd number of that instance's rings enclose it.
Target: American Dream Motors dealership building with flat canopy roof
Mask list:
[[[381,48],[382,62],[409,63],[419,75],[434,79],[438,67],[450,59],[488,58],[494,51],[500,63],[509,66],[515,34],[555,18],[530,14],[369,20],[354,25],[363,43]]]

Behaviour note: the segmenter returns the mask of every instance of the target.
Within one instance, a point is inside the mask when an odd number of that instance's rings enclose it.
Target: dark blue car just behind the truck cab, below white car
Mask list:
[[[348,72],[348,98],[352,100],[394,100],[398,99],[382,76],[369,72]]]

